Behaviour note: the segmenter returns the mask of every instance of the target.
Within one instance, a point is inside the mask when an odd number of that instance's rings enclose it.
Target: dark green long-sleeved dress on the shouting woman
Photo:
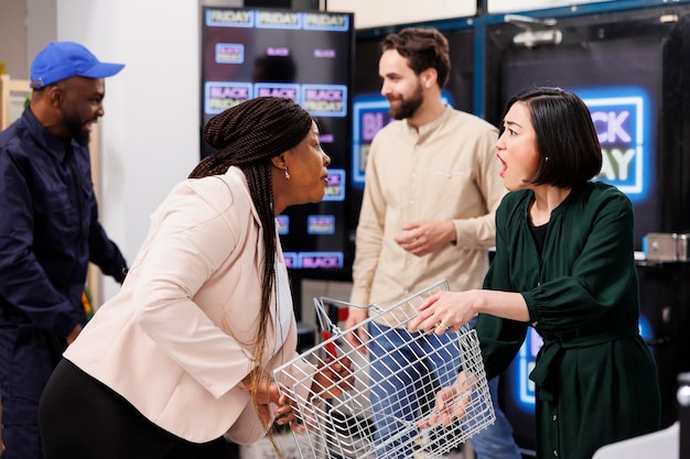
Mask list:
[[[481,315],[488,378],[513,361],[532,326],[543,338],[537,385],[537,458],[591,459],[601,446],[657,430],[656,364],[639,335],[629,199],[580,185],[551,212],[539,251],[531,190],[509,193],[496,214],[496,256],[484,288],[519,292],[530,324]]]

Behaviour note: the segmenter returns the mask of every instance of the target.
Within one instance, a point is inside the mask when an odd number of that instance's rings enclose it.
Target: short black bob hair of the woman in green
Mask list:
[[[587,106],[561,88],[536,87],[513,97],[527,106],[541,156],[529,183],[572,188],[595,177],[602,168],[602,147]],[[503,133],[503,128],[502,128]]]

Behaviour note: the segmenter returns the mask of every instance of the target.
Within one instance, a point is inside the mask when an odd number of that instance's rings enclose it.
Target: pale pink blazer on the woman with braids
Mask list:
[[[65,358],[179,437],[259,440],[261,423],[238,383],[256,346],[261,233],[240,170],[181,183],[153,212],[121,291],[98,308]],[[280,241],[278,251],[282,260]],[[292,310],[291,302],[280,307]],[[277,353],[274,324],[272,317],[269,375],[297,357],[294,316]],[[304,365],[295,372],[304,374],[302,367],[310,374]]]

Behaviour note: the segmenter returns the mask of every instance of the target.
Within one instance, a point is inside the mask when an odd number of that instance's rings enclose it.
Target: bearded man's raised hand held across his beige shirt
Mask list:
[[[402,227],[405,234],[393,240],[413,255],[438,252],[455,241],[455,226],[448,221],[422,220]]]

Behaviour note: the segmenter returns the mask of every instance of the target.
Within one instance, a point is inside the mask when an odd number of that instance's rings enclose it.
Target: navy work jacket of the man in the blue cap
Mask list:
[[[31,110],[0,132],[0,320],[66,337],[85,324],[88,262],[118,282],[126,262],[98,222],[88,146]]]

